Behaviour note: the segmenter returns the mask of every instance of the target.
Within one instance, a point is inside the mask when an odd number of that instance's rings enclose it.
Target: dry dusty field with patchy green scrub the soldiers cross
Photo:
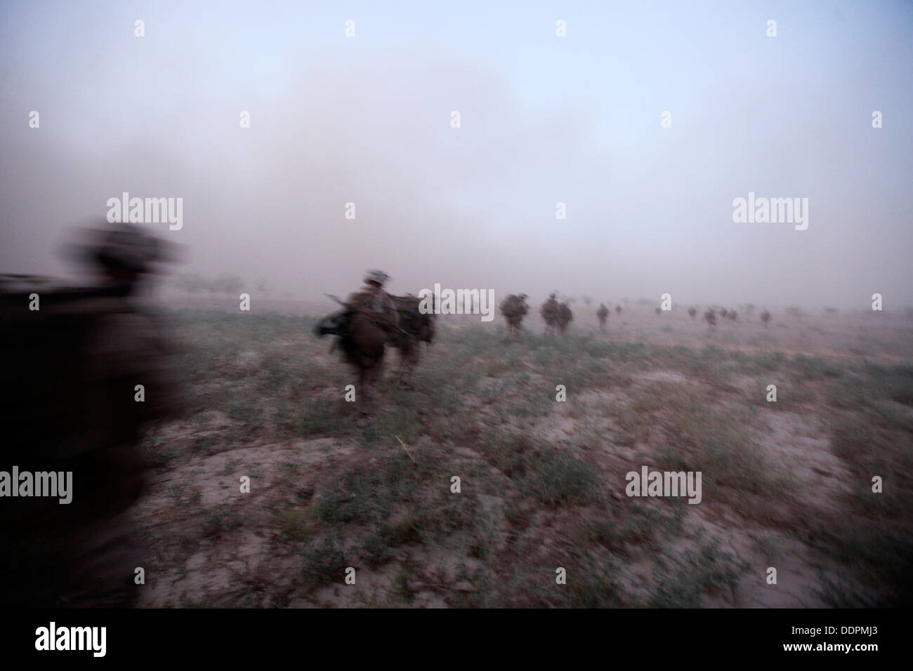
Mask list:
[[[729,324],[700,330],[698,349],[575,329],[558,338],[525,330],[514,343],[495,329],[442,326],[423,347],[415,391],[394,387],[397,361],[388,357],[383,409],[359,428],[342,400],[352,375],[328,354],[329,341],[311,336],[314,320],[201,312],[176,320],[191,412],[181,438],[153,429],[144,449],[163,471],[216,459],[223,488],[236,488],[240,475],[255,488],[250,499],[203,507],[198,486],[166,485],[194,528],[180,542],[162,529],[160,542],[173,543],[183,566],[255,533],[260,554],[283,567],[266,562],[247,582],[184,605],[335,603],[321,588],[342,583],[350,566],[358,586],[344,603],[369,607],[734,603],[747,562],[781,561],[787,538],[834,562],[809,588],[819,603],[909,597],[898,587],[913,519],[908,365],[740,350]],[[679,337],[678,326],[656,331]],[[769,347],[773,336],[751,338]],[[778,384],[777,404],[764,400],[768,383]],[[834,503],[815,500],[829,489],[809,496],[808,480],[771,450],[771,423],[808,413],[821,422],[820,449],[852,478]],[[234,452],[291,444],[278,459]],[[700,471],[701,505],[624,496],[625,473],[642,466]],[[880,495],[873,475],[884,479]],[[821,508],[794,512],[810,502]],[[744,540],[738,556],[719,519]]]

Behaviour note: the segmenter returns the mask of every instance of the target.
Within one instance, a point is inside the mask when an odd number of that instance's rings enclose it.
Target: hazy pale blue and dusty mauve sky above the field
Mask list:
[[[909,3],[0,6],[0,271],[64,274],[61,231],[126,191],[184,199],[147,224],[179,272],[274,298],[380,267],[396,293],[913,304]],[[749,192],[808,198],[807,230],[734,223]]]

